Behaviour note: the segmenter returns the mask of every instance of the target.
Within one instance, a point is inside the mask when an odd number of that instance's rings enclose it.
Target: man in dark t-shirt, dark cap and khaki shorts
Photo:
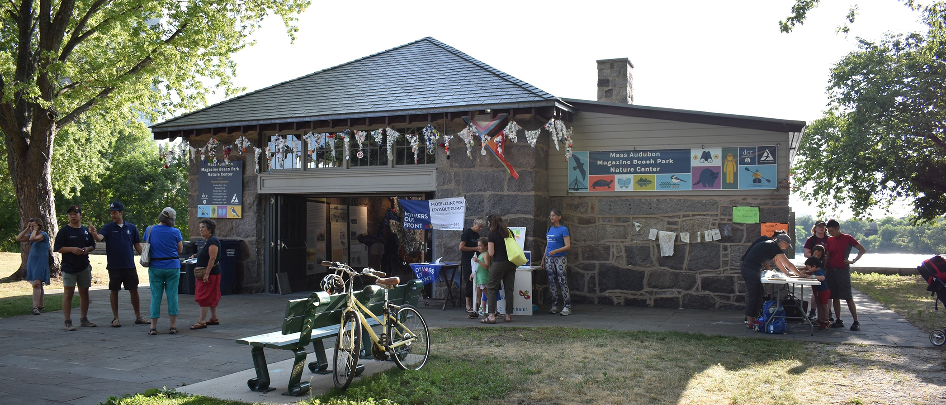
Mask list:
[[[95,328],[89,321],[89,287],[92,286],[92,266],[89,264],[89,252],[96,250],[96,240],[89,228],[79,221],[82,211],[79,206],[66,210],[69,224],[60,228],[53,243],[53,251],[62,255],[62,316],[66,330],[76,330],[72,325],[72,296],[79,287],[79,326]]]

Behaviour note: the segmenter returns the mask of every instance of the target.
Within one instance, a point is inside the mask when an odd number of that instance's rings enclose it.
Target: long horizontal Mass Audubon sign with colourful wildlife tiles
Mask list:
[[[569,192],[777,189],[777,146],[572,152]]]

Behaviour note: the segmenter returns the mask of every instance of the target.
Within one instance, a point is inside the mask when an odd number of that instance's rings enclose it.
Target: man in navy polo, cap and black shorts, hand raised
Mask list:
[[[118,292],[122,284],[131,295],[131,308],[134,309],[134,323],[150,325],[151,321],[141,316],[141,299],[138,296],[138,270],[134,266],[134,252],[141,255],[141,239],[138,228],[125,222],[125,206],[114,201],[109,204],[109,216],[112,222],[105,224],[96,232],[89,227],[89,233],[96,242],[105,242],[105,268],[109,271],[109,301],[112,303],[112,328],[121,328],[118,321]]]

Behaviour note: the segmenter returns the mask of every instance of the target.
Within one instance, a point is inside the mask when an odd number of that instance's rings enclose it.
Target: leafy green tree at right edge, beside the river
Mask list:
[[[805,130],[798,194],[821,207],[914,200],[914,223],[946,214],[946,3],[923,8],[925,34],[859,39],[832,69],[831,110]]]

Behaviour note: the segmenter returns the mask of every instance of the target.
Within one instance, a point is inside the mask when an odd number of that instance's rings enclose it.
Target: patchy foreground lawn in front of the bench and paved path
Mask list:
[[[932,347],[561,328],[436,329],[431,341],[422,370],[394,368],[300,403],[928,404],[940,400],[946,378],[942,351]]]

